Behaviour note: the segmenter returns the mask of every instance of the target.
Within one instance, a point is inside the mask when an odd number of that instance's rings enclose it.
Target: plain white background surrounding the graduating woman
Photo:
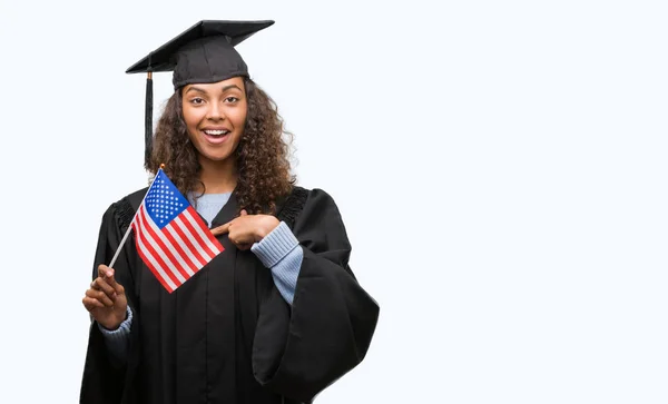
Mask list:
[[[99,220],[147,178],[125,70],[274,19],[238,50],[381,305],[318,403],[668,402],[664,4],[1,0],[0,401],[78,400]]]

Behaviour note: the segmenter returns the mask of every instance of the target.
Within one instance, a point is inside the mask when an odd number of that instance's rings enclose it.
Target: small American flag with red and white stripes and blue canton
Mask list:
[[[169,293],[224,250],[161,168],[131,226],[139,256]]]

